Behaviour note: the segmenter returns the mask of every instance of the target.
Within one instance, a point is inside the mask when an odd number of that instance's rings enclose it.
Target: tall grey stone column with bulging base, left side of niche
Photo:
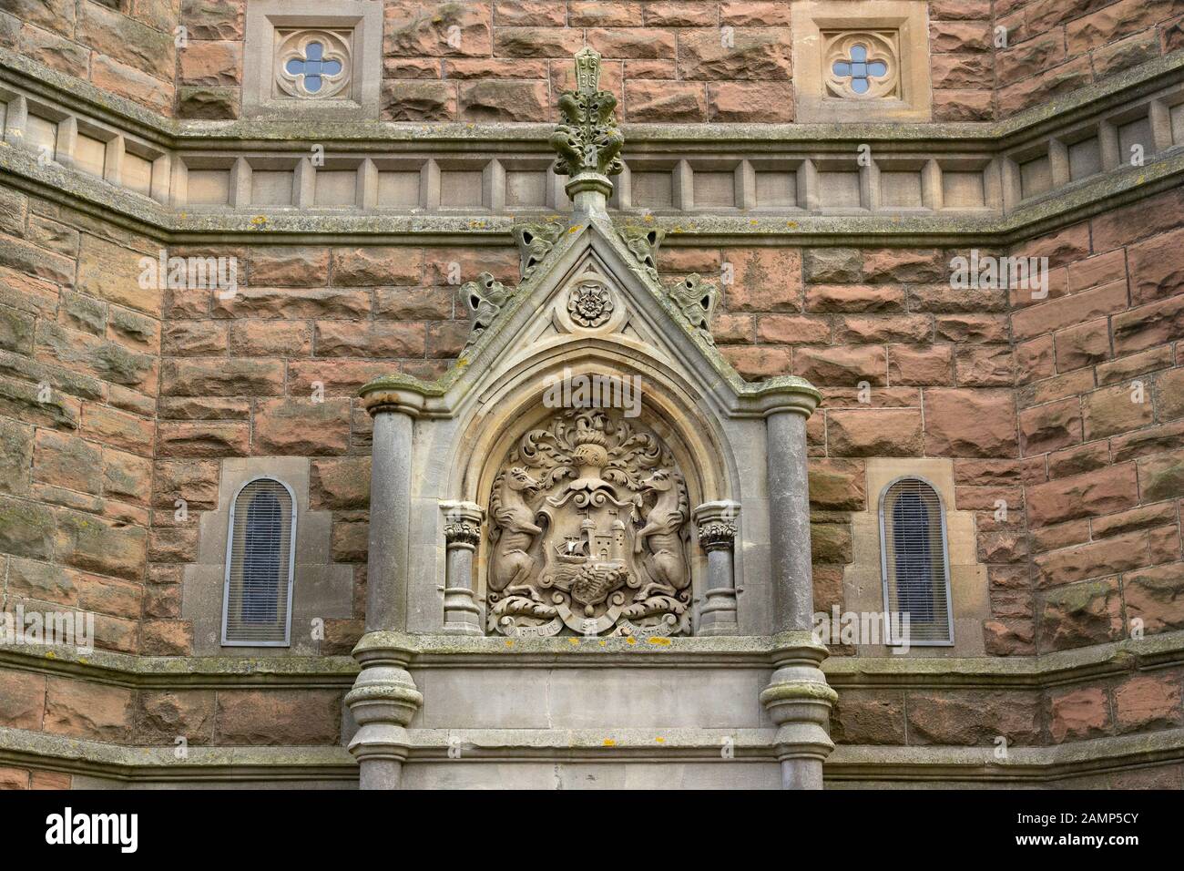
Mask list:
[[[346,704],[359,725],[349,752],[362,789],[398,789],[410,744],[406,726],[423,704],[407,671],[414,651],[405,634],[416,384],[393,376],[361,391],[374,418],[366,634],[354,648],[362,671]]]

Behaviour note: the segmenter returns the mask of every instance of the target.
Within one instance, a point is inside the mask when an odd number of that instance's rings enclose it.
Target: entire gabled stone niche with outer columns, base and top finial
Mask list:
[[[712,339],[718,288],[663,283],[662,232],[610,219],[623,135],[599,63],[577,53],[551,136],[571,216],[515,225],[516,287],[461,288],[472,332],[443,377],[361,390],[366,634],[346,704],[363,789],[471,784],[491,760],[553,784],[585,752],[626,784],[822,787],[821,396],[744,382]],[[440,742],[461,748],[446,768]],[[721,764],[736,742],[744,761]]]

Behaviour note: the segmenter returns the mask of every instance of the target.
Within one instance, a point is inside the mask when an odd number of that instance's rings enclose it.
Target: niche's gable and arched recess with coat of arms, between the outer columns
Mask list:
[[[417,421],[416,455],[425,460],[413,475],[411,546],[426,556],[419,542],[433,550],[443,543],[445,552],[411,561],[413,572],[424,566],[412,582],[422,593],[411,596],[414,629],[519,638],[739,630],[739,578],[746,561],[764,555],[754,544],[741,558],[721,531],[734,537],[766,523],[762,494],[742,481],[742,469],[762,468],[764,422],[713,412],[713,397],[676,374],[668,341],[714,352],[706,332],[689,321],[680,327],[664,312],[646,318],[613,275],[605,237],[586,232],[590,246],[559,281],[532,282],[546,295],[522,332],[489,367],[474,366],[489,383],[463,420]],[[483,324],[506,293],[468,286],[475,313],[468,353],[509,338],[504,312]],[[425,440],[436,443],[429,433],[448,448],[422,451]],[[446,460],[438,468],[437,455]],[[708,531],[710,543],[701,542]],[[718,572],[719,593],[709,591],[708,544],[731,557]],[[457,547],[471,557],[450,561]],[[451,591],[464,587],[476,610],[458,621]],[[753,600],[760,595],[753,589]],[[719,608],[704,620],[708,602]],[[744,616],[759,630],[755,610]]]

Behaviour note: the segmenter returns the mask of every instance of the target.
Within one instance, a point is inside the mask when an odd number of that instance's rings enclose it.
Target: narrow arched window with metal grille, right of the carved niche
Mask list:
[[[888,642],[952,645],[946,515],[927,481],[901,478],[884,487],[880,553]]]

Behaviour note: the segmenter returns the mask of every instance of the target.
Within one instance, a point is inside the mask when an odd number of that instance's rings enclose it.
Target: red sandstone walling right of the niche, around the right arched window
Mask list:
[[[823,391],[809,424],[821,608],[842,603],[847,512],[877,495],[861,457],[941,456],[989,566],[989,652],[1184,628],[1182,226],[1175,191],[1017,248],[1049,257],[1044,301],[951,289],[958,250],[662,254],[668,273],[732,265],[715,329],[742,374]]]

